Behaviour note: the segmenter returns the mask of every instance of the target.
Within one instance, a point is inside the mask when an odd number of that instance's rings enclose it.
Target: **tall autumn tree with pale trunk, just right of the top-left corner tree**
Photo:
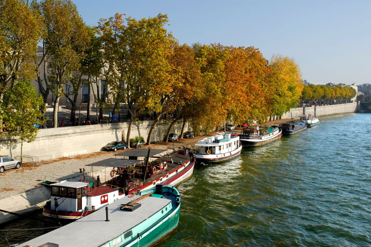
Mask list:
[[[63,95],[63,85],[67,84],[72,71],[79,67],[81,51],[89,39],[88,29],[83,23],[76,5],[70,0],[43,0],[41,10],[46,34],[46,53],[50,56],[49,76],[45,78],[53,93],[53,127],[58,127],[58,103]]]

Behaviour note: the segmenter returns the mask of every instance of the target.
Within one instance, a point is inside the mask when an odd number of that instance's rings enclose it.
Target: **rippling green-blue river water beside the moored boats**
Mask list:
[[[158,246],[371,246],[371,114],[320,119],[233,160],[196,166],[178,186],[178,230]],[[43,226],[22,220],[2,230],[17,227]],[[42,230],[2,233],[12,244]]]

